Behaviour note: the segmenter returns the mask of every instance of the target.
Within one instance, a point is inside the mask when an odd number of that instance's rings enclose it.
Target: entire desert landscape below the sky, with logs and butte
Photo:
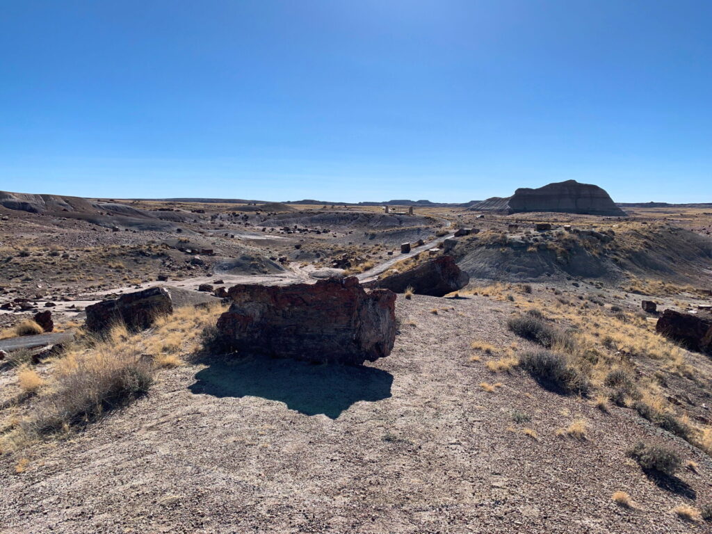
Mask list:
[[[2,531],[708,528],[712,206],[587,187],[0,193]]]

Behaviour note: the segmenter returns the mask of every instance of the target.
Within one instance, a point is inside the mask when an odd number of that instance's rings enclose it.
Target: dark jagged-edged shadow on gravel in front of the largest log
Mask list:
[[[313,365],[296,360],[244,357],[209,362],[189,389],[215,397],[262,397],[305,415],[336,419],[358,401],[391,396],[393,375],[374,367]]]

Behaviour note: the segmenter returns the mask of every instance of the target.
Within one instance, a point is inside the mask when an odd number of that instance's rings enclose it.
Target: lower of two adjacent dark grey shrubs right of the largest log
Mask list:
[[[548,350],[528,350],[519,358],[519,365],[537,382],[548,389],[565,394],[587,394],[590,384],[579,370],[562,355]]]

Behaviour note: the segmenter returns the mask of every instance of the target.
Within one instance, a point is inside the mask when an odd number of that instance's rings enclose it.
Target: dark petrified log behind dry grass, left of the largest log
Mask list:
[[[173,313],[173,303],[164,288],[149,288],[103,300],[86,308],[86,328],[101,332],[123,322],[130,330],[144,330],[159,315]]]

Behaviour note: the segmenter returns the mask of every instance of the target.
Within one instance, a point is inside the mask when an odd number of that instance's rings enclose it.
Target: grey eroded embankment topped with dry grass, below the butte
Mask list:
[[[608,278],[634,275],[689,282],[712,267],[712,239],[665,225],[506,234],[487,232],[454,250],[472,278],[536,281],[540,278]]]

